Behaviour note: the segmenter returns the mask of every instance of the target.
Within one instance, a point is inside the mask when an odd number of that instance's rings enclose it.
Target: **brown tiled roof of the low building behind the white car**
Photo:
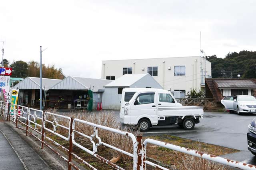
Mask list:
[[[256,84],[248,79],[213,79],[219,89],[256,89]]]

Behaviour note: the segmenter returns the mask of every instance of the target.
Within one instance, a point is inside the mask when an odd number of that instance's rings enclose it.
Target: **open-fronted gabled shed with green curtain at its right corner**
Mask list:
[[[104,86],[112,80],[81,78],[68,76],[50,88],[47,92],[49,106],[62,108],[87,108],[90,99],[89,90],[93,92],[93,109],[102,102]]]

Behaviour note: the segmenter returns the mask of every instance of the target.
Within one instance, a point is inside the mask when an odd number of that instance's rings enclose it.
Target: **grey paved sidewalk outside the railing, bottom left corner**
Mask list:
[[[18,134],[0,120],[0,170],[51,170]]]

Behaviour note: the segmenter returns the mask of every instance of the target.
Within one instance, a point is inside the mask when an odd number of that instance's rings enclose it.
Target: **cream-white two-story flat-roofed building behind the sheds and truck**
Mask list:
[[[205,87],[211,78],[211,63],[200,56],[102,61],[102,79],[115,80],[124,74],[150,74],[164,89],[180,91]]]

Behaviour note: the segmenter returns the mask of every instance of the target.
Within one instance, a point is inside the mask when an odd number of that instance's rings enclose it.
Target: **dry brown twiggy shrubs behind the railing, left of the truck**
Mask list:
[[[113,112],[110,111],[102,111],[102,112],[70,112],[65,114],[65,116],[78,118],[80,120],[85,120],[87,122],[91,122],[94,124],[99,124],[102,126],[106,126],[109,128],[114,128],[118,130],[122,130],[125,132],[130,132],[134,134],[135,136],[140,134],[140,132],[131,126],[125,126],[122,127],[119,122],[117,122],[116,115]],[[64,118],[61,118],[58,120],[58,124],[61,124],[63,126],[68,127],[68,121]],[[84,123],[76,122],[75,123],[75,130],[78,132],[81,132],[87,136],[91,136],[94,134],[94,127],[86,125]],[[66,130],[61,128],[58,130],[60,134],[66,133]],[[110,132],[109,130],[104,130],[101,128],[98,128],[98,136],[100,137],[102,142],[105,142],[107,144],[110,144],[112,146],[115,146],[116,148],[119,148],[121,150],[124,150],[126,152],[133,152],[133,142],[130,137],[126,135],[117,134],[114,132]],[[91,149],[92,148],[92,142],[89,138],[86,138],[84,136],[76,134],[75,136],[76,142],[80,143],[82,146]],[[96,137],[93,138],[93,141],[95,143],[98,143],[98,139]],[[98,151],[105,150],[106,147],[104,146],[98,146]],[[108,150],[112,155],[114,156],[120,156],[120,160],[126,162],[132,159],[132,157],[127,156],[126,154],[122,154],[120,152],[117,152],[116,150]]]

